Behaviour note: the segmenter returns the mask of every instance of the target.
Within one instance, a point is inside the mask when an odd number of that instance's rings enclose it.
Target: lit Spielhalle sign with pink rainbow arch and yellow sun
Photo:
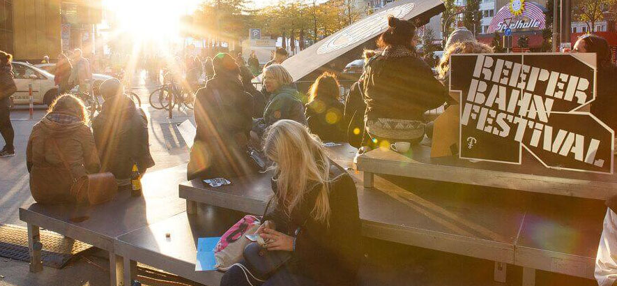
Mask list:
[[[487,33],[512,31],[540,31],[546,27],[544,7],[538,3],[525,0],[510,0],[501,7],[489,24]]]

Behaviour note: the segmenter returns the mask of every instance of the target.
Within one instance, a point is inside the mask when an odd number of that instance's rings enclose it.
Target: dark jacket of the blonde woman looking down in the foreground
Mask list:
[[[273,220],[277,231],[289,235],[300,227],[295,262],[291,269],[326,286],[356,285],[361,257],[360,214],[356,184],[339,165],[330,161],[330,226],[314,220],[310,213],[321,186],[312,185],[303,204],[287,218],[277,207],[265,220]],[[272,183],[276,192],[276,183]]]

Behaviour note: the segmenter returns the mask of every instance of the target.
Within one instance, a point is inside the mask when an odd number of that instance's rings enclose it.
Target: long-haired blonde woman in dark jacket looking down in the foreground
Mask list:
[[[258,277],[261,281],[234,266],[220,285],[356,285],[360,218],[351,176],[296,121],[273,123],[266,130],[264,152],[273,162],[275,207],[257,232],[268,250],[289,251],[293,258],[273,276]]]

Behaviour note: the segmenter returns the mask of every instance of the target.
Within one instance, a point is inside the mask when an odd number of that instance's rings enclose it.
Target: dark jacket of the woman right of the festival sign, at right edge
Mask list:
[[[617,67],[597,70],[597,92],[591,103],[591,113],[617,132]]]

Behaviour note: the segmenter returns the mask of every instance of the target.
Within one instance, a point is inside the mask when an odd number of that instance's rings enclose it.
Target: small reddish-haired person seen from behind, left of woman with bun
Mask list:
[[[345,106],[340,101],[340,85],[332,73],[317,77],[309,91],[305,116],[311,133],[323,142],[343,142]]]

